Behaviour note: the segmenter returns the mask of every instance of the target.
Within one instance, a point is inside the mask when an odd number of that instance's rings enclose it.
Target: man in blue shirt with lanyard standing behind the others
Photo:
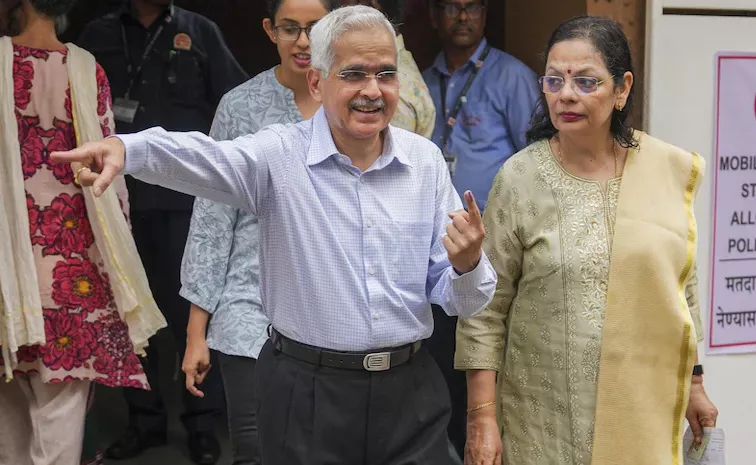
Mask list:
[[[488,0],[430,0],[431,20],[443,46],[423,72],[436,106],[433,142],[444,153],[452,182],[471,190],[481,210],[494,176],[525,148],[525,131],[538,102],[537,77],[524,63],[492,48],[483,37]],[[457,319],[433,306],[435,328],[428,350],[444,372],[452,397],[449,439],[463,456],[465,375],[455,372]]]

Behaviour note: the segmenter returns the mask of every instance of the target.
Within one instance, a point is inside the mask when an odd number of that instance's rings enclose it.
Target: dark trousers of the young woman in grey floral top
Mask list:
[[[257,398],[253,388],[257,360],[221,352],[218,360],[226,392],[231,465],[260,465]]]

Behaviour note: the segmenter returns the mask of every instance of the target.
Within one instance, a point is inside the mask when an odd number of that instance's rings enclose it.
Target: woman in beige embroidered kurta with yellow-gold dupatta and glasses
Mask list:
[[[717,419],[696,349],[703,160],[627,125],[615,22],[566,21],[546,56],[531,145],[485,210],[496,295],[457,328],[465,463],[682,463],[685,418],[696,443]]]

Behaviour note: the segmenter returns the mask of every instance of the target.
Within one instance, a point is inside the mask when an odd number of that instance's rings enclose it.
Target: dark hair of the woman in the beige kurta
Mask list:
[[[578,16],[560,24],[551,34],[544,58],[548,59],[554,45],[576,39],[586,40],[593,45],[613,76],[615,85],[622,85],[626,72],[633,73],[633,57],[625,33],[615,21],[599,16]],[[633,138],[633,129],[627,125],[627,119],[633,109],[634,97],[635,86],[633,85],[624,108],[622,110],[615,108],[612,112],[610,132],[623,147],[634,147],[637,144]],[[528,142],[550,139],[557,132],[549,116],[546,98],[541,94],[527,132]]]

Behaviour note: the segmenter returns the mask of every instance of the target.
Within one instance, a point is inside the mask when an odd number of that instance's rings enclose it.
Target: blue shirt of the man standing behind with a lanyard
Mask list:
[[[470,60],[451,75],[443,52],[423,72],[436,105],[432,140],[439,147],[449,113],[486,44],[484,39]],[[488,201],[488,191],[501,165],[528,145],[525,132],[540,98],[536,74],[515,57],[491,48],[483,63],[447,144],[447,151],[456,155],[454,187],[460,195],[471,190],[481,209]],[[445,107],[441,102],[442,77],[447,85]]]

